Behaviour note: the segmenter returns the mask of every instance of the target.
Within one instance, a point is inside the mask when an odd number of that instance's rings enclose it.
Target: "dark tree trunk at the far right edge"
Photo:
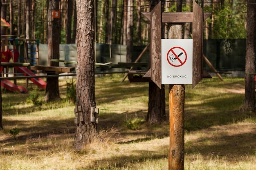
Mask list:
[[[247,3],[247,39],[245,57],[245,111],[255,111],[255,36],[256,0]]]

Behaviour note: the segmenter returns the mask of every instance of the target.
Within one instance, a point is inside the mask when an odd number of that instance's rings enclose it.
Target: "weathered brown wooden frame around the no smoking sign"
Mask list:
[[[203,22],[211,13],[204,13],[202,8],[193,1],[193,12],[161,12],[161,2],[150,12],[142,13],[150,20],[150,70],[145,77],[155,82],[161,88],[161,23],[193,23],[193,77],[192,88],[195,87],[203,77],[209,74],[203,70]]]

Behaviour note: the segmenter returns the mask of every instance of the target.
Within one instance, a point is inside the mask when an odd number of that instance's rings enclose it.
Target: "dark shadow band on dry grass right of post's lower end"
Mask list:
[[[227,156],[229,159],[256,156],[256,128],[249,133],[221,134],[219,137],[200,137],[185,144],[186,154]],[[209,159],[205,157],[205,159]],[[231,161],[231,160],[230,160]]]

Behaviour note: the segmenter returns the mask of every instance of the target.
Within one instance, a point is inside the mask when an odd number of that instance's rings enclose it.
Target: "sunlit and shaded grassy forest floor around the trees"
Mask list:
[[[169,122],[128,129],[128,120],[146,118],[148,84],[120,83],[122,76],[96,78],[99,137],[104,141],[80,152],[72,146],[74,104],[65,99],[70,79],[60,79],[60,102],[41,106],[27,100],[34,84],[27,94],[2,90],[0,170],[167,170]],[[38,93],[43,98],[44,91]],[[203,79],[193,89],[186,85],[185,170],[256,169],[256,116],[240,110],[243,93],[241,78]],[[21,130],[16,140],[9,133],[13,128]]]

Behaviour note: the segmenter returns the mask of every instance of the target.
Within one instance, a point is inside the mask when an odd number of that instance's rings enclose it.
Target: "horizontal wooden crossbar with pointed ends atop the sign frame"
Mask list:
[[[142,12],[150,20],[150,12]],[[211,15],[210,12],[204,13],[204,20]],[[162,13],[162,22],[185,23],[193,22],[193,12],[164,12]]]

